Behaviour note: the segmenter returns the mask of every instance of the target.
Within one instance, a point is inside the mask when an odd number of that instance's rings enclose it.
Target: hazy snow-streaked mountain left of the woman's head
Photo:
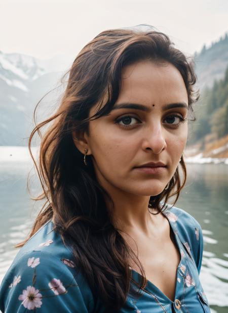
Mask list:
[[[35,105],[57,86],[69,63],[61,56],[39,60],[18,53],[0,52],[1,146],[27,145],[34,126]],[[47,106],[39,112],[44,114],[46,111]]]

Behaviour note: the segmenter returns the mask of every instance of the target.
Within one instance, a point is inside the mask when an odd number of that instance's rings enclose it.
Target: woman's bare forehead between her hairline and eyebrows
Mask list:
[[[108,101],[108,92],[90,110],[90,116],[98,112]],[[116,101],[138,103],[149,107],[155,104],[188,103],[183,78],[175,66],[168,62],[145,60],[123,68],[121,89]],[[116,105],[115,104],[115,105]]]

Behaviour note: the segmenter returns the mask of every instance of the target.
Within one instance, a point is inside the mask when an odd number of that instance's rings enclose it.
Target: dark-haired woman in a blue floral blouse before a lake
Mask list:
[[[52,122],[37,167],[46,203],[3,280],[3,312],[210,312],[201,226],[167,204],[186,180],[195,83],[151,28],[103,31],[83,48],[29,139]]]

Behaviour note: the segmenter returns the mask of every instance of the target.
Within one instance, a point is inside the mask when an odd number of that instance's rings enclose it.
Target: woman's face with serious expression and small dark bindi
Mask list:
[[[118,108],[123,104],[128,108]],[[95,112],[96,107],[90,116]],[[86,135],[88,155],[92,154],[100,184],[107,191],[160,194],[186,144],[187,121],[181,121],[187,112],[186,87],[172,64],[146,60],[126,66],[113,110],[90,121]],[[157,173],[136,168],[148,162],[163,162],[166,167]]]

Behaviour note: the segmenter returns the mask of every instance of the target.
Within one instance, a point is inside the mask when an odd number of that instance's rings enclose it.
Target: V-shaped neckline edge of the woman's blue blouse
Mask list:
[[[175,232],[175,228],[174,228],[174,225],[172,225],[172,222],[169,220],[168,216],[161,212],[163,216],[165,216],[165,218],[168,220],[169,222],[169,227],[170,227],[170,234],[172,233],[173,235],[173,239],[175,240],[175,243],[176,243],[176,246],[177,246],[177,249],[179,251],[179,255],[180,255],[180,261],[179,261],[179,264],[177,266],[177,269],[176,269],[176,283],[175,283],[175,294],[174,294],[174,301],[176,299],[176,294],[177,294],[177,276],[178,276],[178,270],[180,268],[181,265],[184,265],[183,264],[183,256],[181,254],[181,249],[180,249],[180,239],[178,238],[178,235],[176,234]],[[141,274],[139,274],[137,271],[131,269],[132,273],[137,277],[141,277]],[[169,302],[172,302],[174,303],[174,301],[172,301],[169,297],[167,297],[166,294],[164,294],[164,292],[161,291],[161,289],[159,289],[155,284],[153,284],[152,282],[150,282],[149,280],[146,280],[147,281],[147,284],[145,286],[145,288],[143,289],[146,293],[151,293],[151,291],[154,292],[154,289],[156,289],[164,298],[166,298]]]

